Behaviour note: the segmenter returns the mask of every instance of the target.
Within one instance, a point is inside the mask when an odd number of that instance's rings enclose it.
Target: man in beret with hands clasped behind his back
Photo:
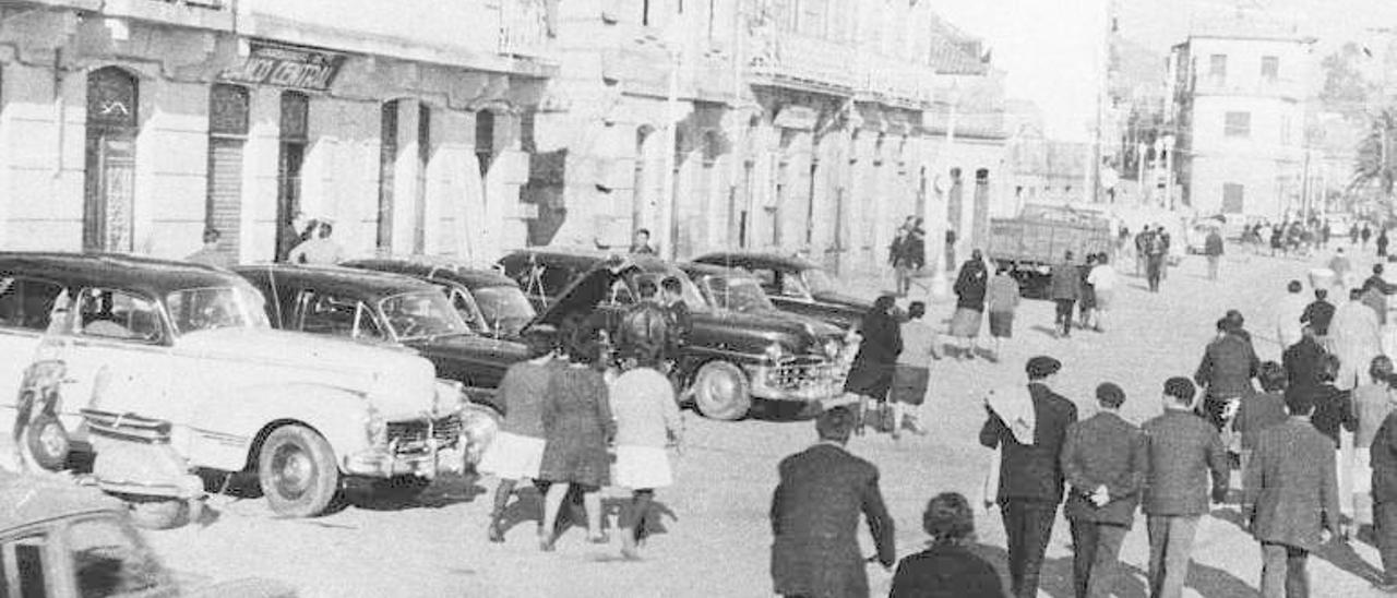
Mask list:
[[[1126,394],[1119,386],[1097,387],[1101,411],[1067,428],[1062,471],[1071,482],[1063,513],[1071,524],[1077,598],[1106,598],[1134,510],[1140,504],[1148,447],[1139,428],[1120,419]]]

